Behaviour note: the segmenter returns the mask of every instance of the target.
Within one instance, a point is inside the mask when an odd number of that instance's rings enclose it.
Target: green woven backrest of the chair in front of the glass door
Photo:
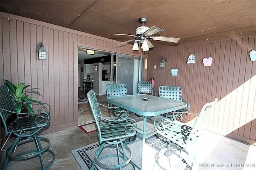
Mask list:
[[[106,86],[107,97],[128,95],[125,84],[108,84]]]

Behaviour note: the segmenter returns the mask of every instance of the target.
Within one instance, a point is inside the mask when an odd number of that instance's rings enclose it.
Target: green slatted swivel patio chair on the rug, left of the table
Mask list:
[[[101,144],[95,152],[94,161],[90,169],[93,170],[95,164],[98,164],[102,168],[121,169],[122,166],[128,164],[132,159],[132,152],[124,143],[126,138],[136,134],[137,123],[134,119],[130,118],[110,120],[102,117],[100,106],[93,90],[87,93],[87,99],[92,109],[92,114],[98,129],[99,142]],[[102,156],[102,150],[109,145],[116,146],[116,154]],[[102,160],[107,158],[111,158],[112,161],[110,161],[109,164],[103,163]],[[116,160],[116,162],[114,160]],[[135,169],[133,163],[132,166]]]

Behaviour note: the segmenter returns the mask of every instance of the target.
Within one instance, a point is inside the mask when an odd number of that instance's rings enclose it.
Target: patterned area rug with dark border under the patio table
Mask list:
[[[80,148],[71,150],[74,158],[78,162],[80,168],[82,170],[89,170],[92,166],[92,162],[94,160],[94,153],[100,146],[99,142],[95,142],[86,146],[82,146]],[[158,156],[159,150],[164,148],[166,146],[166,143],[162,142],[158,137],[154,136],[146,140],[145,145],[145,154],[146,155],[146,165],[143,165],[143,170],[148,169],[154,169],[154,170],[165,170],[165,169],[180,169],[180,158],[179,158],[179,152],[177,150],[170,150],[167,151],[164,156]],[[132,151],[132,162],[137,166],[136,170],[138,170],[138,167],[141,168],[141,157],[142,157],[142,140],[137,137],[136,141],[128,144],[128,147]],[[108,154],[116,154],[116,148],[112,145],[105,146],[102,150],[100,156],[105,156]],[[184,157],[184,156],[183,156]],[[188,162],[188,156],[186,157],[186,160],[182,158],[181,162],[181,169],[187,170],[186,167]],[[158,165],[160,164],[160,166]],[[103,160],[106,164],[113,165],[115,161],[115,158],[107,158]],[[104,168],[96,165],[94,167],[95,170],[104,170]],[[126,166],[122,167],[122,170],[132,170],[134,169],[132,167],[132,164],[129,163]],[[116,170],[116,169],[114,169]]]

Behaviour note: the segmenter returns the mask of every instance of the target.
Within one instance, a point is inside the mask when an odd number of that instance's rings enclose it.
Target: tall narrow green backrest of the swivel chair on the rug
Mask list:
[[[97,97],[96,97],[95,92],[93,90],[90,90],[87,93],[86,96],[87,96],[87,99],[89,101],[90,108],[92,110],[92,115],[94,117],[96,126],[98,128],[98,136],[99,136],[99,140],[100,140],[100,143],[101,143],[101,138],[102,137],[101,137],[101,132],[100,132],[100,121],[102,121],[103,119],[102,119],[102,114],[101,114],[101,111],[100,111],[100,106],[98,104]]]

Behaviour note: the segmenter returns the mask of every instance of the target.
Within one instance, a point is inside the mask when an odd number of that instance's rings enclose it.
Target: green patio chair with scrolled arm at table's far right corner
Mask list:
[[[182,121],[183,113],[188,113],[190,109],[190,103],[188,101],[184,101],[182,97],[182,89],[181,87],[178,86],[160,86],[159,87],[159,97],[163,97],[166,99],[172,99],[172,100],[177,100],[177,101],[183,101],[187,104],[187,107],[183,109],[178,109],[176,111],[171,112],[172,117],[174,121]]]

